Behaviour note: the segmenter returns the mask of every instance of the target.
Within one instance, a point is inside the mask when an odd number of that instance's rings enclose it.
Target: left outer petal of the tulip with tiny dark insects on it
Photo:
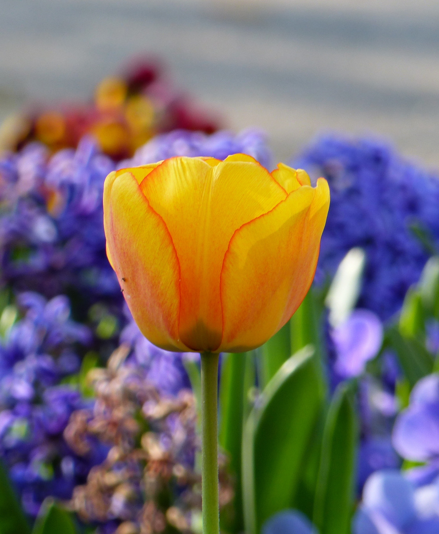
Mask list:
[[[137,179],[132,171],[119,171],[111,173],[105,182],[104,227],[109,259],[141,332],[158,347],[186,351],[187,347],[178,341],[177,254],[163,219],[149,206]]]

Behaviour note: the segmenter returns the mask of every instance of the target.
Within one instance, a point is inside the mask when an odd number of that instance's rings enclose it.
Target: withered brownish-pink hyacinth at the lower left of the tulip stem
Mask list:
[[[193,392],[159,392],[151,383],[149,362],[139,364],[126,344],[110,356],[106,368],[89,373],[95,400],[75,412],[65,431],[78,454],[98,440],[108,455],[93,468],[70,502],[97,532],[198,532],[201,478]],[[155,357],[160,355],[156,354]],[[233,497],[226,458],[219,456],[219,504]]]

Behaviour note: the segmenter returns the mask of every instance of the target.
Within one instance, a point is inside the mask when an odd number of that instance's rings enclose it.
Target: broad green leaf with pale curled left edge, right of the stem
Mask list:
[[[323,404],[315,351],[291,356],[267,384],[243,438],[245,531],[257,533],[296,497],[304,458]]]

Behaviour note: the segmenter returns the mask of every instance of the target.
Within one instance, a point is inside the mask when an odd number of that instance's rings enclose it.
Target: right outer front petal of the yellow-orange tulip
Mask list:
[[[304,299],[314,278],[329,188],[304,186],[235,232],[221,272],[224,329],[219,351],[265,343]]]

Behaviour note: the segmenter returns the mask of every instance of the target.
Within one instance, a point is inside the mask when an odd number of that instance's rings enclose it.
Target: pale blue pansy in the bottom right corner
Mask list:
[[[396,470],[371,475],[354,519],[354,534],[437,534],[439,509]]]

